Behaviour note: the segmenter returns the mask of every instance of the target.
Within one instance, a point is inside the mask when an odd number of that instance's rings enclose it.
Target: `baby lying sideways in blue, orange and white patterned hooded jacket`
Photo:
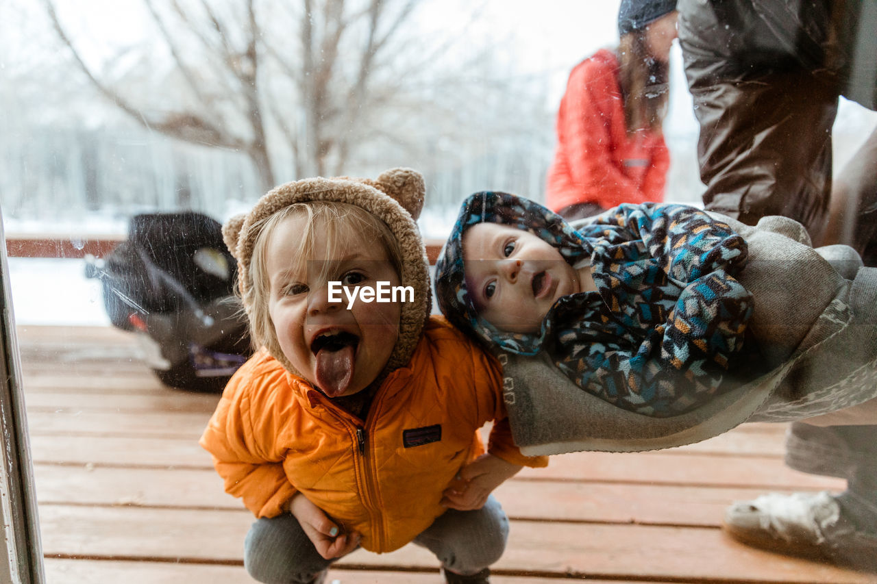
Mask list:
[[[439,309],[499,351],[545,351],[579,387],[671,417],[749,381],[745,240],[702,210],[623,204],[578,230],[501,192],[467,198],[436,267]]]

